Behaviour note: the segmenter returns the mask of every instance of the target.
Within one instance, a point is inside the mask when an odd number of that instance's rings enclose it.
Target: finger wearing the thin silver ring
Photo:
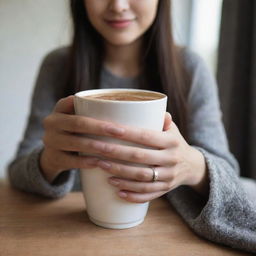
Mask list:
[[[151,182],[153,180],[153,170],[151,167],[127,165],[106,160],[98,161],[97,166],[115,177],[144,182]],[[177,176],[175,169],[172,167],[155,167],[154,170],[158,174],[158,181],[170,182]]]

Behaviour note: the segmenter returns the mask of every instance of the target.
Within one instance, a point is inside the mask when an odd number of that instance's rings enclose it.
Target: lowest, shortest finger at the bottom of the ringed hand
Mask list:
[[[165,191],[153,192],[153,193],[134,193],[129,191],[118,191],[118,196],[122,199],[132,203],[146,203],[155,198],[164,195]]]

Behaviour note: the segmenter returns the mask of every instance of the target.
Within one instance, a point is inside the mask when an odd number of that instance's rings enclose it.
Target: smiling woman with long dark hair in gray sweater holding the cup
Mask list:
[[[166,195],[198,234],[256,251],[255,209],[244,199],[238,165],[228,149],[216,83],[200,58],[174,45],[170,1],[71,0],[71,10],[72,46],[50,53],[42,64],[28,127],[9,167],[11,183],[61,197],[79,189],[75,169],[99,166],[113,175],[109,183],[124,200]],[[69,95],[108,87],[168,94],[171,115],[166,114],[163,131],[73,115]],[[154,149],[107,144],[81,138],[82,133]],[[155,166],[157,181],[152,182],[151,168],[99,161],[78,156],[79,151]]]

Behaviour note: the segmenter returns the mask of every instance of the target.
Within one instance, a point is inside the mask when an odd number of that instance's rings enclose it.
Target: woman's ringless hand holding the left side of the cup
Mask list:
[[[43,121],[45,134],[40,167],[50,183],[65,170],[96,166],[98,158],[79,156],[77,153],[95,153],[90,146],[95,140],[82,137],[82,134],[118,135],[116,129],[111,129],[110,123],[74,115],[73,100],[74,96],[59,100],[53,112]]]

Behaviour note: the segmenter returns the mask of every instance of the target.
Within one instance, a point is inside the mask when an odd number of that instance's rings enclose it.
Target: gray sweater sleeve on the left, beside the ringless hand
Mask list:
[[[23,191],[52,198],[68,193],[75,179],[75,171],[68,170],[50,184],[42,175],[39,166],[39,157],[43,149],[42,120],[51,113],[58,99],[66,96],[65,83],[61,79],[65,52],[65,48],[58,49],[44,58],[33,92],[25,134],[15,159],[8,166],[11,185]]]

